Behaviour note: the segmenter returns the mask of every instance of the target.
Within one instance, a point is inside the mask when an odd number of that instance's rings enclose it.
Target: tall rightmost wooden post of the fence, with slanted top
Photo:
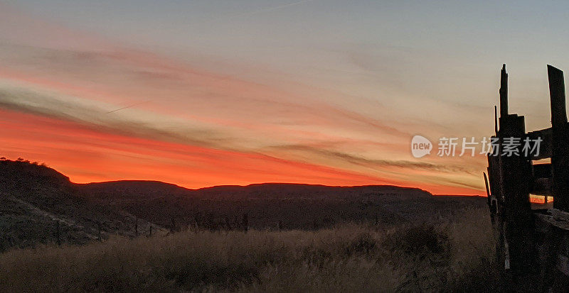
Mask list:
[[[547,65],[551,97],[551,128],[553,130],[551,167],[553,173],[553,207],[569,211],[569,134],[565,106],[563,71]]]

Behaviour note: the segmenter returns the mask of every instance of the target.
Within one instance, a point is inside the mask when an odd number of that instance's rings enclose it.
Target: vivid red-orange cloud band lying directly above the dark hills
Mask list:
[[[47,162],[73,182],[152,179],[197,188],[218,184],[297,182],[415,186],[347,170],[238,153],[102,133],[77,123],[0,111],[2,155]],[[434,192],[471,190],[425,184]]]

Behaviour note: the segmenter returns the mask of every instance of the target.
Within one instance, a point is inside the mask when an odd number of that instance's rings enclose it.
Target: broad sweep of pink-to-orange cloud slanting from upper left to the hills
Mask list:
[[[4,22],[18,28],[0,27],[9,37],[0,45],[0,78],[9,84],[0,87],[0,140],[10,157],[48,162],[76,182],[397,184],[482,193],[483,158],[413,160],[408,140],[424,121],[403,122],[396,109],[376,105],[377,115],[363,114],[334,102],[353,99],[348,94],[208,72],[2,9]]]

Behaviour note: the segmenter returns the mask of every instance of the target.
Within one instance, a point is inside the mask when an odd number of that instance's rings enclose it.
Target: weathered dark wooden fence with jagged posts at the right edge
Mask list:
[[[569,292],[569,124],[563,72],[548,65],[548,77],[550,128],[526,133],[524,116],[509,114],[506,65],[499,117],[494,109],[489,179],[486,174],[484,179],[497,256],[514,291]],[[553,197],[553,208],[532,209],[530,194],[545,202]]]

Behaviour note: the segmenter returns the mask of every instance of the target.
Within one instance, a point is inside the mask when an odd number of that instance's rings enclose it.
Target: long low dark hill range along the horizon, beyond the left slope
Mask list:
[[[253,228],[314,228],[348,221],[424,221],[465,206],[477,197],[434,197],[422,189],[369,185],[331,187],[263,183],[185,189],[163,182],[119,181],[78,184],[91,201],[128,211],[161,226],[240,226],[248,214]],[[377,220],[376,220],[377,219]]]

